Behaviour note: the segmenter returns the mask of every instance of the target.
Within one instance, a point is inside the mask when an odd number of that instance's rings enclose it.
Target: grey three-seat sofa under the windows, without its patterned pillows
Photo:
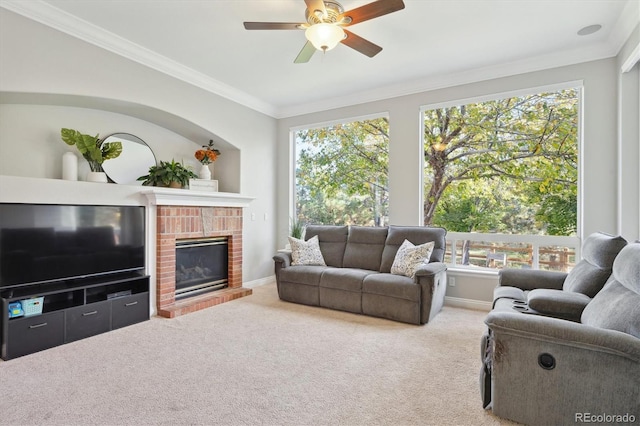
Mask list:
[[[305,240],[318,236],[326,266],[292,266],[290,253],[276,254],[278,295],[294,303],[425,324],[444,303],[446,233],[421,226],[307,226]],[[405,239],[415,245],[434,242],[429,263],[419,266],[414,278],[391,273]]]

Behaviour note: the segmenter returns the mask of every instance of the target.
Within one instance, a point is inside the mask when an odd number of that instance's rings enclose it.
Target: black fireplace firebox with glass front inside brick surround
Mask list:
[[[228,278],[227,237],[176,241],[176,300],[227,288]]]

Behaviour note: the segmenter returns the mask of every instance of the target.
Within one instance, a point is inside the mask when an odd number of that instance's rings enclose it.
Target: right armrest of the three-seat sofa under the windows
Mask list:
[[[420,323],[426,324],[444,305],[447,291],[447,265],[443,262],[431,262],[416,269],[415,283],[421,288]]]

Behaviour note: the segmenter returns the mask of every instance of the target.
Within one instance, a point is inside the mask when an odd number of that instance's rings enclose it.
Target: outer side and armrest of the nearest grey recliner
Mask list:
[[[485,323],[495,415],[524,424],[574,424],[581,413],[640,415],[640,339],[505,311],[489,313]]]

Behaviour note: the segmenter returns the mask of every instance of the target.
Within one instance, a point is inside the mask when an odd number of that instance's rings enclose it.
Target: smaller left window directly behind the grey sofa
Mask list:
[[[389,121],[294,132],[296,218],[303,224],[388,223]]]

